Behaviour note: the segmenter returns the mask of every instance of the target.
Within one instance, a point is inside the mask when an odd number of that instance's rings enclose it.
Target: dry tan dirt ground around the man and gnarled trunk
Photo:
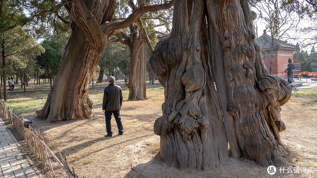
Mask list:
[[[35,119],[35,114],[27,115],[25,118],[33,119],[35,123],[33,128],[41,131],[46,144],[53,152],[61,151],[64,158],[67,157],[71,167],[75,168],[76,174],[80,177],[317,177],[317,107],[316,102],[305,104],[316,101],[315,96],[292,97],[285,106],[282,106],[281,119],[287,129],[281,132],[281,138],[288,154],[285,157],[286,163],[276,167],[276,174],[269,175],[267,167],[262,167],[249,158],[234,158],[231,155],[228,161],[207,171],[168,167],[160,158],[160,138],[153,132],[154,121],[162,114],[164,92],[152,91],[147,92],[146,95],[145,101],[124,99],[121,118],[125,132],[122,136],[116,135],[116,123],[113,118],[112,128],[115,132],[112,138],[104,137],[105,117],[100,103],[95,103],[93,107],[93,115],[96,118],[94,120],[46,123]],[[20,144],[25,145],[23,142],[24,140]],[[34,158],[33,160],[36,162]],[[56,176],[66,178],[65,172],[53,159],[52,161]],[[305,168],[306,173],[304,173]],[[44,177],[53,177],[48,168],[40,166],[39,169]],[[289,169],[293,173],[287,173]],[[294,173],[294,169],[299,173]]]

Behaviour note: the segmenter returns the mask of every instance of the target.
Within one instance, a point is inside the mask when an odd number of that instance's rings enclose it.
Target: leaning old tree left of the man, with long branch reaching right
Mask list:
[[[43,108],[37,117],[47,121],[68,118],[88,118],[93,102],[88,97],[89,82],[97,67],[100,54],[116,30],[126,28],[148,11],[167,9],[164,3],[140,7],[122,22],[112,22],[116,0],[62,1],[71,15],[72,35],[65,47],[61,67]],[[75,79],[74,79],[75,78]]]

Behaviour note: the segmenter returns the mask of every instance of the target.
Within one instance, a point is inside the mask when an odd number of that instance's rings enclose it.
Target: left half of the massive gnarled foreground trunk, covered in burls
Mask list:
[[[154,132],[161,136],[164,161],[183,169],[211,169],[228,159],[208,46],[202,45],[208,40],[200,38],[206,35],[203,10],[204,1],[175,1],[171,37],[157,44],[150,59],[165,87],[163,116],[155,121]]]

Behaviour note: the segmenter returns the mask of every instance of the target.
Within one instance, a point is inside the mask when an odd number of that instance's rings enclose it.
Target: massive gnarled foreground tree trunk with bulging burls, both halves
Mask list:
[[[228,141],[235,157],[262,165],[285,161],[280,111],[291,88],[268,74],[255,17],[247,0],[174,2],[171,36],[150,58],[165,87],[154,132],[168,165],[211,169],[228,159]]]

